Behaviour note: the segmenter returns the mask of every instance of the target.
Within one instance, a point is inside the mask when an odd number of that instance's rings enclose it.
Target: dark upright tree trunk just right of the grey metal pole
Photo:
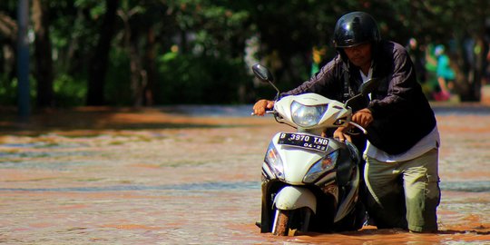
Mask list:
[[[48,1],[33,0],[34,23],[34,63],[35,80],[37,81],[37,106],[54,106],[53,93],[53,59],[49,37]]]

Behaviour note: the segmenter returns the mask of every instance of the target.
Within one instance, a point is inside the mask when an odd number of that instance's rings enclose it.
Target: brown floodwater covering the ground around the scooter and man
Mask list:
[[[250,108],[50,112],[20,127],[0,119],[0,243],[490,244],[488,108],[435,107],[440,232],[286,238],[255,221],[263,154],[289,128]]]

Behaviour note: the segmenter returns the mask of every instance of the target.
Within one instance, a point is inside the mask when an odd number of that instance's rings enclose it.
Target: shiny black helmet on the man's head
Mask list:
[[[381,35],[376,20],[364,12],[351,12],[337,21],[333,43],[336,48],[352,47],[368,42],[377,43]]]

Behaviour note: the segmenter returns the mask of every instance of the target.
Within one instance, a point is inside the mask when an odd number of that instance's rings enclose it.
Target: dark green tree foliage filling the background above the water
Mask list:
[[[51,45],[53,62],[53,98],[44,97],[44,105],[90,103],[87,95],[95,86],[100,86],[92,95],[97,103],[90,104],[251,103],[271,97],[270,88],[252,83],[250,64],[270,66],[284,90],[302,83],[309,78],[312,48],[327,50],[323,62],[336,54],[331,45],[334,25],[339,16],[355,10],[375,16],[386,39],[446,44],[457,65],[458,93],[465,100],[479,99],[487,66],[486,0],[112,1],[117,4],[113,35],[105,47],[101,40],[107,31],[101,30],[107,1],[40,1],[49,14],[44,29],[51,44],[44,46]],[[1,1],[4,105],[15,104],[15,20],[16,0]],[[45,60],[45,52],[34,53],[34,25],[32,30],[31,55]],[[98,72],[104,65],[106,72]],[[36,83],[44,82],[31,69],[35,97]],[[100,79],[89,83],[94,77]]]

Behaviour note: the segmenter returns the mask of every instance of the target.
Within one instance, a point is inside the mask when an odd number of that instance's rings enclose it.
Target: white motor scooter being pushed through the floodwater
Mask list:
[[[255,75],[274,85],[270,71],[255,64]],[[373,85],[364,83],[346,103],[316,93],[289,95],[276,101],[277,122],[296,132],[278,132],[262,164],[261,232],[289,235],[291,231],[358,230],[366,220],[358,201],[360,155],[349,142],[322,137],[328,128],[353,125],[350,103],[362,99]]]

